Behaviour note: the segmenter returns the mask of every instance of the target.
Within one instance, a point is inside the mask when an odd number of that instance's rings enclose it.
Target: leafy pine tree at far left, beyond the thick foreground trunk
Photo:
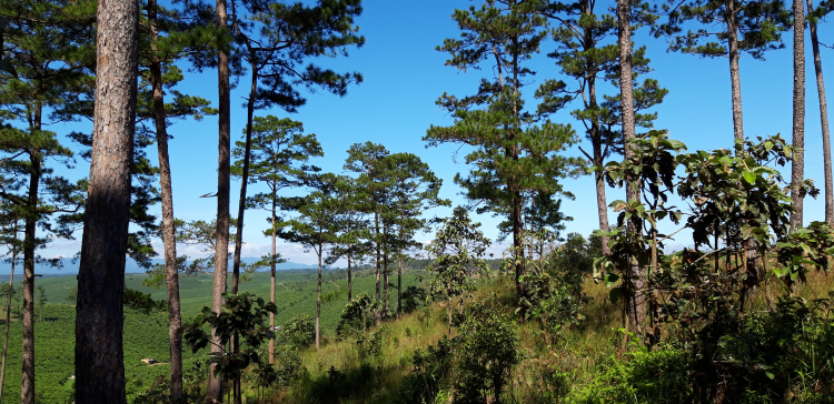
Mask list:
[[[0,3],[9,17],[4,44],[9,47],[13,74],[3,74],[0,103],[6,111],[0,127],[0,198],[23,218],[23,377],[21,402],[34,403],[34,264],[37,250],[58,235],[71,238],[73,213],[83,204],[85,181],[70,183],[54,175],[50,160],[64,166],[73,153],[47,125],[71,120],[51,113],[64,99],[83,92],[90,70],[79,59],[89,52],[91,27],[72,21],[73,12],[90,10],[86,2],[67,1]],[[60,11],[60,12],[59,12]],[[73,24],[75,22],[75,24]],[[67,27],[69,24],[69,27]],[[44,115],[47,114],[47,115]],[[19,128],[18,125],[21,125]],[[62,213],[52,221],[50,216]],[[37,228],[47,236],[38,236]]]

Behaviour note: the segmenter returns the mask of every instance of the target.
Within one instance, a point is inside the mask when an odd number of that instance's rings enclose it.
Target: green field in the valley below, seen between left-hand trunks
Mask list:
[[[417,283],[419,272],[406,272],[403,287]],[[150,293],[153,299],[165,300],[165,287],[155,290],[142,286],[143,274],[128,274],[125,279],[127,287]],[[347,301],[347,274],[342,270],[326,271],[321,285],[322,295],[330,294],[331,301],[321,304],[321,332],[332,335]],[[295,270],[279,271],[276,304],[278,315],[276,322],[284,324],[296,314],[316,314],[316,271]],[[396,277],[391,279],[396,284]],[[182,302],[183,322],[193,316],[206,305],[211,303],[212,277],[196,275],[180,279],[180,299]],[[50,276],[36,280],[36,286],[43,286],[48,303],[43,307],[42,320],[36,305],[36,392],[38,402],[64,403],[69,402],[72,392],[70,376],[73,372],[73,344],[76,307],[67,301],[67,296],[76,286],[76,276]],[[371,293],[375,277],[368,271],[354,275],[354,294]],[[241,291],[255,293],[267,300],[269,296],[269,274],[256,273],[251,281],[242,282]],[[339,292],[341,292],[339,294]],[[396,289],[391,290],[391,307],[396,307]],[[13,304],[13,307],[17,305]],[[18,403],[20,400],[21,382],[21,324],[17,315],[12,315],[9,339],[9,358],[3,383],[2,403]],[[205,355],[205,352],[197,354]],[[146,365],[143,357],[153,357],[161,362],[157,365]],[[143,314],[132,310],[125,312],[125,371],[127,377],[127,393],[130,402],[136,394],[142,392],[158,375],[168,374],[168,315],[165,312]],[[187,350],[185,353],[186,367],[196,356]]]

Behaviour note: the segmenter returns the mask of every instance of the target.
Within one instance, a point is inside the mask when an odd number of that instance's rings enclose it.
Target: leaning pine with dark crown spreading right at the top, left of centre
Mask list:
[[[279,107],[296,112],[306,103],[297,87],[321,88],[344,97],[347,87],[361,82],[361,74],[336,73],[315,64],[302,63],[319,55],[347,55],[351,46],[361,47],[365,38],[357,36],[354,18],[361,13],[359,0],[319,1],[315,7],[280,2],[244,2],[251,12],[249,21],[232,16],[236,41],[250,67],[247,101],[247,125],[240,176],[238,231],[232,261],[232,293],[237,293],[242,250],[244,213],[251,127],[256,109]]]

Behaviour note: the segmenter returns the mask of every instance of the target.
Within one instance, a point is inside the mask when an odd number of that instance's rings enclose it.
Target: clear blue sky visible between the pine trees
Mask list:
[[[459,195],[460,189],[453,182],[455,173],[468,171],[466,165],[453,160],[457,147],[426,149],[421,138],[431,124],[446,125],[451,122],[446,112],[435,105],[435,100],[440,94],[470,94],[475,91],[478,80],[484,74],[489,74],[489,70],[464,73],[446,67],[446,54],[435,50],[444,38],[458,36],[456,24],[449,16],[456,8],[467,8],[470,4],[471,1],[465,0],[364,1],[365,11],[357,23],[361,34],[367,39],[365,47],[350,50],[348,58],[326,59],[320,63],[337,71],[361,72],[365,82],[350,88],[345,98],[322,92],[308,93],[307,105],[300,108],[296,114],[287,114],[281,110],[256,113],[289,117],[304,122],[305,131],[316,133],[322,144],[325,158],[317,159],[314,163],[325,171],[341,172],[347,156],[346,150],[356,142],[371,141],[384,144],[391,152],[415,153],[444,179],[441,195],[451,199],[455,204],[464,203]],[[820,38],[824,42],[834,38],[832,33],[828,26],[820,27]],[[766,53],[767,60],[764,62],[753,60],[749,55],[742,58],[742,98],[747,137],[782,133],[791,139],[792,36],[792,32],[784,33],[786,48]],[[688,54],[667,53],[665,41],[651,38],[646,29],[636,34],[635,41],[637,46],[647,47],[647,55],[655,69],[651,77],[659,80],[661,85],[669,90],[665,102],[656,108],[659,113],[656,128],[667,129],[672,138],[685,142],[689,150],[731,147],[733,128],[727,59],[702,59]],[[805,168],[806,176],[814,179],[822,188],[820,112],[810,39],[806,42]],[[545,57],[553,48],[553,42],[545,42],[540,55],[532,61],[532,68],[538,72],[533,79],[536,83],[560,75],[559,69]],[[822,52],[823,68],[830,69],[828,78],[832,78],[834,52],[826,48],[823,48]],[[247,79],[242,78],[241,83],[245,82]],[[830,91],[834,91],[832,79],[828,79],[826,84]],[[245,127],[244,102],[247,91],[244,87],[240,85],[232,91],[234,137],[240,137]],[[607,93],[616,90],[607,83],[600,84],[600,88]],[[216,71],[188,73],[180,91],[216,102]],[[574,128],[580,131],[580,125],[569,115],[570,110],[572,108],[564,110],[553,117],[553,120],[573,123]],[[64,134],[81,128],[89,131],[89,123],[57,124],[50,129]],[[170,133],[175,137],[170,143],[175,214],[186,220],[210,220],[216,213],[216,200],[199,196],[217,190],[217,119],[208,117],[201,122],[180,122],[170,129]],[[576,148],[569,153],[579,155]],[[151,150],[149,154],[155,158],[156,151]],[[460,160],[463,159],[459,158],[458,161]],[[80,162],[70,175],[85,175],[87,169]],[[232,212],[237,212],[239,185],[239,182],[232,182]],[[567,223],[568,231],[587,235],[598,223],[592,176],[568,179],[565,181],[565,189],[576,195],[575,200],[563,203],[564,211],[574,218],[573,222]],[[620,193],[622,190],[609,189],[608,200],[622,199]],[[429,212],[433,215],[449,213],[449,209]],[[261,234],[267,225],[266,218],[266,212],[247,212],[248,225],[244,233],[244,240],[247,242],[245,256],[259,256],[268,251],[269,240]],[[615,216],[610,218],[614,220]],[[822,219],[822,198],[816,201],[808,199],[805,202],[806,222]],[[484,223],[486,234],[495,239],[499,220],[488,215],[481,215],[478,220]],[[428,240],[430,235],[424,234],[420,238]],[[688,241],[683,235],[673,244],[686,245]],[[161,243],[157,242],[156,246],[161,253]],[[496,246],[494,252],[500,254],[502,249],[500,245]],[[42,254],[72,255],[78,250],[80,234],[77,241],[53,242]],[[180,246],[179,252],[196,256],[200,254],[198,250]],[[282,244],[279,251],[294,262],[315,262],[312,253],[305,253],[304,249],[297,245]]]

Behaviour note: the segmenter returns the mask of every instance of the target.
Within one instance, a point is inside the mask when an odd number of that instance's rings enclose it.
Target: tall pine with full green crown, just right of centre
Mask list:
[[[446,63],[463,71],[487,68],[496,77],[481,79],[474,95],[440,97],[437,103],[453,114],[455,123],[433,125],[424,138],[428,145],[451,142],[475,149],[466,156],[474,165],[471,172],[457,174],[455,182],[466,190],[467,199],[480,202],[478,213],[492,211],[508,218],[519,297],[524,295],[519,280],[525,274],[523,194],[534,190],[563,193],[558,180],[580,165],[559,154],[576,141],[574,130],[539,121],[524,109],[522,88],[534,73],[524,63],[547,36],[546,20],[536,6],[490,0],[479,8],[455,11],[460,39],[446,39],[437,48],[450,54]]]

